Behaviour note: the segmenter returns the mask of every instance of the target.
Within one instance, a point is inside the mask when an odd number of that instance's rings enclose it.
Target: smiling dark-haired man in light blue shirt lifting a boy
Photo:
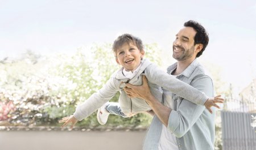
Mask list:
[[[196,59],[204,52],[208,41],[208,33],[201,24],[193,20],[184,23],[173,43],[172,57],[177,62],[167,68],[167,73],[213,97],[212,79]],[[141,86],[127,83],[125,88],[131,97],[146,100],[155,113],[143,149],[214,149],[214,109],[211,114],[204,106],[164,89],[162,104],[152,96],[146,78],[143,83]]]

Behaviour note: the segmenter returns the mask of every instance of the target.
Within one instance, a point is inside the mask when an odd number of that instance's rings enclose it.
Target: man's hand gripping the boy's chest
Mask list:
[[[148,87],[148,84],[147,84],[147,78],[144,75],[142,76],[141,86],[132,85],[130,83],[126,83],[125,85],[126,87],[123,88],[123,90],[126,92],[126,94],[130,98],[139,97],[139,98],[142,98],[143,100],[148,101],[152,96],[150,92],[150,88]]]

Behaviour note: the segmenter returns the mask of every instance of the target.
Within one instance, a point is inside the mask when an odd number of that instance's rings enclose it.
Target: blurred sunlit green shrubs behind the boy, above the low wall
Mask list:
[[[13,125],[55,125],[98,91],[120,66],[110,44],[82,47],[74,55],[42,57],[30,51],[20,59],[0,61],[0,110]],[[146,58],[159,63],[158,46],[146,44]],[[118,101],[118,94],[111,101]],[[7,109],[8,108],[8,109]],[[7,111],[8,110],[8,111]],[[151,117],[110,116],[108,126],[147,126]],[[96,113],[78,126],[99,126]]]

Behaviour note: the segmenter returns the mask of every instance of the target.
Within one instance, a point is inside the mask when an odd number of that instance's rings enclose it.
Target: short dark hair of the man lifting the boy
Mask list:
[[[208,33],[207,33],[207,31],[205,31],[205,28],[200,23],[197,23],[193,20],[189,20],[188,22],[185,22],[184,27],[192,27],[193,29],[195,29],[196,35],[194,38],[194,40],[195,40],[194,45],[196,45],[196,44],[204,45],[203,49],[196,55],[196,57],[199,57],[204,52],[205,48],[208,45],[208,42],[209,42]]]

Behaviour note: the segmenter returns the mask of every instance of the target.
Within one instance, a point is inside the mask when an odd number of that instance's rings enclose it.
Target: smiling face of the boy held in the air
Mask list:
[[[134,71],[144,56],[144,50],[139,50],[133,43],[123,44],[115,53],[115,61],[125,68],[126,71]]]

